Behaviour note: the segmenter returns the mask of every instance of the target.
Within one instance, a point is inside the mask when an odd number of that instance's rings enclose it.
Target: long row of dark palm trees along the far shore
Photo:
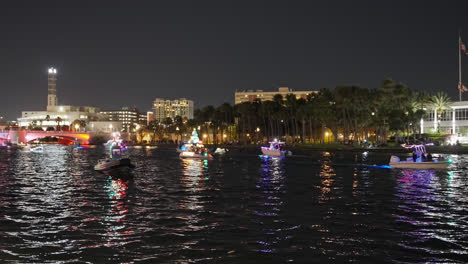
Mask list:
[[[288,142],[361,141],[386,143],[420,136],[420,120],[428,111],[437,112],[437,120],[451,104],[445,93],[430,95],[410,90],[391,79],[378,88],[337,86],[320,89],[297,98],[277,94],[272,101],[254,100],[237,105],[224,103],[197,109],[194,119],[180,116],[163,122],[152,121],[140,133],[151,133],[152,141],[175,134],[184,139],[194,128],[209,135],[210,143],[243,143],[278,138]]]

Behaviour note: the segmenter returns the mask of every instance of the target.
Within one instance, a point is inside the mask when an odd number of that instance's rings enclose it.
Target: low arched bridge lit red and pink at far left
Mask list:
[[[87,132],[67,131],[36,131],[36,130],[9,130],[0,132],[0,142],[28,143],[30,141],[45,138],[58,137],[81,144],[89,144],[90,134]]]

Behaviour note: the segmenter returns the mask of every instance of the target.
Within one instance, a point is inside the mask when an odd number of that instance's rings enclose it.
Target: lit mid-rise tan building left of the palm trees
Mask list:
[[[153,101],[153,120],[162,122],[168,117],[174,119],[176,116],[193,119],[193,101],[185,98],[176,100],[156,98]]]

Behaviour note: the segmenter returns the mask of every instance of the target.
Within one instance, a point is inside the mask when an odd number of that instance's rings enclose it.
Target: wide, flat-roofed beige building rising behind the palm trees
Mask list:
[[[247,90],[241,92],[234,93],[234,103],[240,104],[244,102],[254,102],[256,99],[260,101],[272,101],[273,97],[276,94],[280,94],[283,96],[283,99],[286,99],[286,95],[294,94],[297,99],[303,98],[307,99],[307,95],[310,93],[316,93],[317,91],[293,91],[289,87],[280,87],[278,91],[263,91],[263,90]]]

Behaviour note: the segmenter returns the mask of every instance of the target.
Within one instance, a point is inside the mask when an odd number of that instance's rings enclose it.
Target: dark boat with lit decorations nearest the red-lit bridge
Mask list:
[[[94,166],[95,171],[111,172],[117,169],[134,169],[129,158],[122,158],[122,151],[127,149],[118,136],[114,136],[114,140],[109,141],[106,145],[110,145],[110,157],[98,160]]]

